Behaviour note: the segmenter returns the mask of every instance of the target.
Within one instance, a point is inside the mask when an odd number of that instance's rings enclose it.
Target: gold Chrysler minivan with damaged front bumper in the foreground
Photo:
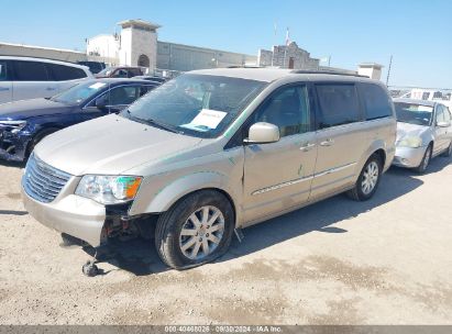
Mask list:
[[[196,70],[119,115],[42,141],[22,179],[46,226],[102,249],[150,236],[176,269],[224,254],[240,230],[348,191],[372,198],[396,118],[379,81],[288,69]],[[92,263],[85,272],[96,272]],[[92,274],[93,275],[93,274]]]

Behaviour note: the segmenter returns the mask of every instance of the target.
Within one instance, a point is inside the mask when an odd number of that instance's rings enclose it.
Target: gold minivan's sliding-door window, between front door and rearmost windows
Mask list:
[[[320,129],[360,121],[360,103],[354,85],[319,84],[316,90],[320,104]]]

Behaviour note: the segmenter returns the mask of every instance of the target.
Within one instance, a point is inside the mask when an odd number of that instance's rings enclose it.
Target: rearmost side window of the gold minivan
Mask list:
[[[364,100],[366,120],[390,116],[393,107],[388,94],[378,85],[361,84],[361,94]]]

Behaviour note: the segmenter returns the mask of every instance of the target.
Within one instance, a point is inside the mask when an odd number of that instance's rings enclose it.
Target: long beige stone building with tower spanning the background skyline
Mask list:
[[[359,70],[320,66],[318,58],[300,48],[297,43],[275,45],[258,51],[257,56],[221,49],[158,41],[162,26],[143,20],[118,23],[121,31],[100,34],[86,40],[86,53],[20,44],[0,43],[0,55],[32,56],[64,62],[98,60],[108,65],[146,67],[151,71],[187,71],[201,68],[229,66],[283,67],[307,70],[342,71],[381,79],[382,65],[361,64]]]

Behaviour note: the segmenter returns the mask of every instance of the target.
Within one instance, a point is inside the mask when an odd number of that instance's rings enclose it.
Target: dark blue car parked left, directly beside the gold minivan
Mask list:
[[[88,80],[51,98],[0,104],[0,158],[22,162],[57,130],[119,112],[157,85],[145,80]]]

